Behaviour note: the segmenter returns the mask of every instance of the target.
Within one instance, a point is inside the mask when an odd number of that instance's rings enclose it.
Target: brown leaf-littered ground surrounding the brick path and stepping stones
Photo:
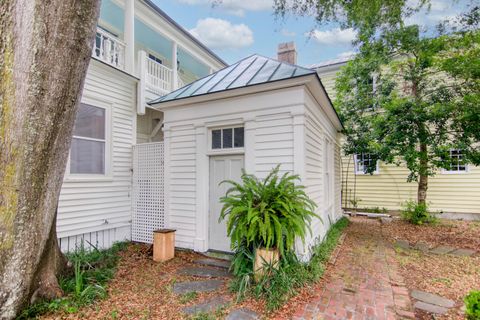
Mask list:
[[[346,229],[348,241],[339,250],[350,250],[356,246],[358,221],[354,218]],[[425,241],[430,246],[450,245],[458,248],[480,249],[480,223],[442,222],[434,226],[412,226],[402,221],[389,224],[375,224],[368,232],[378,232],[390,243],[405,239],[411,243]],[[355,232],[353,232],[356,230]],[[349,234],[349,231],[351,234]],[[367,232],[367,231],[365,231]],[[361,248],[353,248],[360,250]],[[353,250],[353,251],[355,251]],[[480,256],[453,257],[423,254],[416,250],[396,249],[399,270],[405,278],[408,289],[419,289],[453,299],[456,307],[448,315],[435,319],[463,319],[461,308],[463,297],[472,289],[480,288]],[[166,263],[155,263],[146,245],[132,244],[121,253],[117,273],[108,285],[108,298],[84,307],[76,314],[50,314],[42,319],[185,319],[181,308],[203,301],[209,296],[226,297],[231,304],[216,317],[222,318],[228,311],[242,306],[263,315],[265,319],[289,319],[298,308],[315,299],[318,290],[325,285],[335,265],[329,265],[324,279],[299,290],[280,310],[266,314],[264,303],[253,298],[235,304],[235,295],[224,285],[213,293],[202,293],[195,297],[180,297],[172,292],[176,281],[193,280],[192,277],[177,275],[179,268],[193,265],[193,260],[203,257],[199,254],[179,251],[176,257]],[[228,281],[227,281],[228,282]],[[431,315],[416,314],[420,319],[432,319]]]

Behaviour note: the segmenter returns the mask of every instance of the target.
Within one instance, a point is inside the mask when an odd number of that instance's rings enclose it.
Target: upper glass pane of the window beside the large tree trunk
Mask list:
[[[94,139],[105,139],[105,109],[80,104],[75,118],[73,135]]]

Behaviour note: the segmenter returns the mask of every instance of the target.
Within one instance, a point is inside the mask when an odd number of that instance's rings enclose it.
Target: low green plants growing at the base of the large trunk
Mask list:
[[[51,301],[38,301],[22,311],[18,319],[35,318],[55,311],[76,313],[79,308],[107,296],[105,285],[113,278],[118,263],[118,253],[127,243],[115,243],[110,249],[87,251],[83,244],[67,259],[73,265],[73,273],[59,279],[65,295]]]

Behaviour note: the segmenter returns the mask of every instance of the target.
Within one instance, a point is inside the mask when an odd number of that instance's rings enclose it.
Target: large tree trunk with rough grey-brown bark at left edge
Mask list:
[[[61,294],[55,231],[99,0],[0,1],[0,318]]]

